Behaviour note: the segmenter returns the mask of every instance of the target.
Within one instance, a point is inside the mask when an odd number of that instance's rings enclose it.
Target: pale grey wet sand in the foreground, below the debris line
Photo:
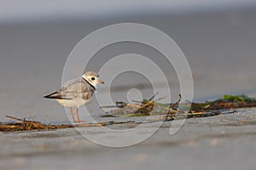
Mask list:
[[[4,133],[0,136],[0,167],[253,169],[256,165],[255,125],[255,108],[238,110],[231,115],[188,119],[172,136],[169,135],[171,122],[164,122],[146,141],[119,149],[94,144],[74,128]],[[96,128],[84,130],[95,133]],[[147,133],[147,129],[137,133]],[[95,135],[104,135],[104,132]]]

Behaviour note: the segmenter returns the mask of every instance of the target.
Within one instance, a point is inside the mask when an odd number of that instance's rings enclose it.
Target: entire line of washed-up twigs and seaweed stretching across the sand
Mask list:
[[[102,108],[114,108],[108,112],[107,116],[149,116],[155,115],[156,117],[148,120],[150,122],[159,121],[173,121],[184,118],[218,116],[224,114],[232,114],[236,112],[236,108],[256,107],[256,99],[249,98],[247,95],[241,94],[237,96],[224,95],[221,99],[214,101],[206,101],[204,103],[180,103],[181,95],[176,103],[163,104],[159,101],[165,99],[161,97],[155,99],[155,96],[150,99],[143,99],[143,101],[133,101],[134,104],[125,103],[122,101],[116,102],[116,105],[102,106]],[[62,124],[52,125],[44,124],[42,122],[28,121],[25,118],[20,119],[14,116],[7,116],[15,120],[15,122],[2,122],[0,123],[0,132],[15,132],[15,131],[41,131],[53,130],[59,128],[69,127],[102,127],[113,124],[140,124],[142,122],[96,122],[96,123],[80,123],[80,124]],[[143,122],[144,123],[144,122]]]

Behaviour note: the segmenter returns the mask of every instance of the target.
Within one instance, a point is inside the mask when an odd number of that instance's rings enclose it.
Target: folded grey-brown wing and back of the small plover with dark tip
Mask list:
[[[94,89],[83,78],[74,79],[67,82],[63,88],[53,94],[45,96],[51,99],[90,99],[94,94]]]

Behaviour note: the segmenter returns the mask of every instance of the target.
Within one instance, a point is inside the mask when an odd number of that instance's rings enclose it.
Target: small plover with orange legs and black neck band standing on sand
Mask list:
[[[55,99],[64,107],[69,107],[73,122],[83,122],[79,119],[79,107],[90,102],[97,84],[104,84],[104,82],[99,79],[96,72],[88,71],[82,77],[66,82],[61,89],[44,96],[44,98]],[[76,108],[77,120],[73,114],[73,107]]]

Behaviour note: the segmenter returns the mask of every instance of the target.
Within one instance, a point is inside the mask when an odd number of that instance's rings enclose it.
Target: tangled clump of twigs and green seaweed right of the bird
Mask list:
[[[155,94],[156,95],[156,94]],[[202,117],[217,116],[223,114],[220,110],[232,110],[242,107],[255,107],[256,99],[249,98],[245,94],[241,95],[224,95],[221,99],[206,101],[204,103],[180,103],[181,95],[174,104],[159,103],[161,99],[143,99],[143,101],[134,101],[134,104],[123,101],[116,102],[116,105],[102,106],[102,108],[114,108],[108,111],[106,116],[149,116],[149,115],[166,115],[166,120],[172,121],[185,117]],[[190,107],[190,108],[189,108]],[[186,112],[184,112],[186,111]],[[234,111],[230,111],[234,112]],[[106,117],[105,116],[105,117]]]

